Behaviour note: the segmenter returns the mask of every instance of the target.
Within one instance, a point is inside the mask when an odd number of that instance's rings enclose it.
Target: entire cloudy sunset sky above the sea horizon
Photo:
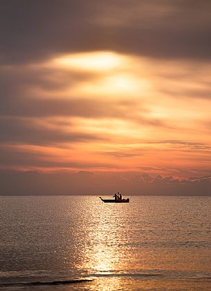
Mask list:
[[[210,0],[1,0],[1,194],[211,195]]]

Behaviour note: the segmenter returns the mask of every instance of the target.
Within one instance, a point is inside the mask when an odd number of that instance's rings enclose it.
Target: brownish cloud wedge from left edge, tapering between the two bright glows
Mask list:
[[[32,93],[28,88],[39,89],[44,92],[53,92],[59,94],[61,90],[65,90],[71,85],[77,84],[84,80],[93,80],[97,78],[94,73],[82,73],[79,71],[66,71],[59,68],[46,68],[30,65],[11,65],[0,67],[0,100],[8,99],[8,102],[15,98],[30,98]],[[42,95],[42,94],[41,94]],[[43,96],[35,95],[36,98]],[[60,96],[56,96],[59,98]]]

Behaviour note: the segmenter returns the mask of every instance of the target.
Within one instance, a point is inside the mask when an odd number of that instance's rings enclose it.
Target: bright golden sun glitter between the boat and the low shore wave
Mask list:
[[[89,209],[90,223],[84,226],[82,236],[83,270],[93,274],[113,274],[116,270],[124,270],[125,256],[128,251],[129,234],[125,226],[127,205],[100,204]],[[118,209],[117,209],[118,208]],[[91,221],[98,221],[93,224]]]

